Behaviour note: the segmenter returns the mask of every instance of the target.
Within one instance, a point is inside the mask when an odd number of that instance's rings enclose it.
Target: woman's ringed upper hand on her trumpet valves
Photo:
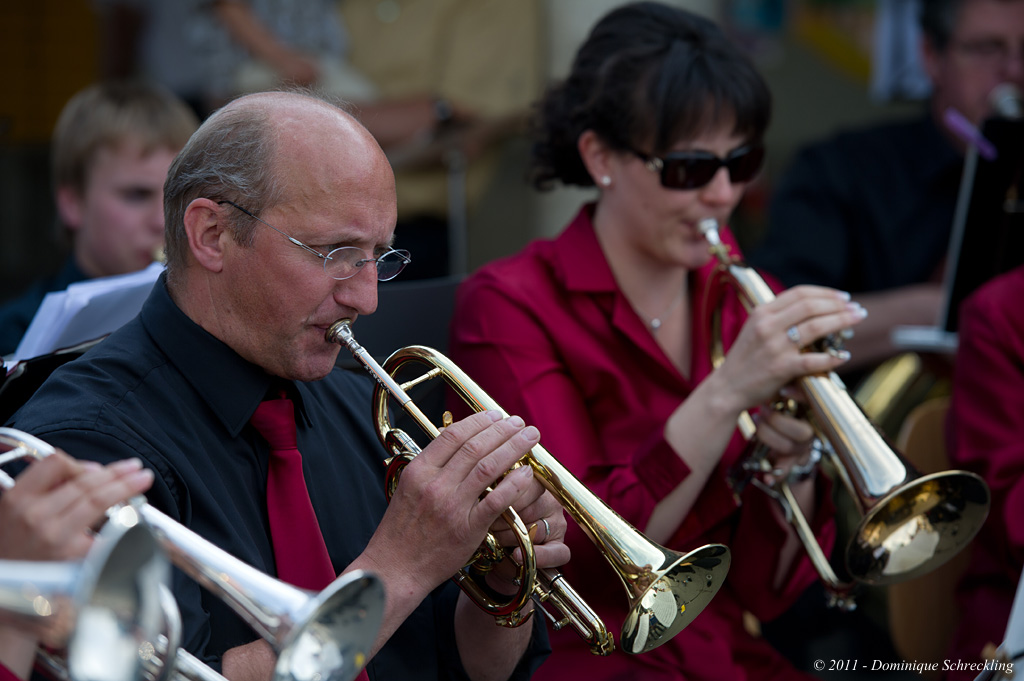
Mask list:
[[[772,399],[796,378],[842,366],[848,353],[808,348],[865,316],[849,294],[819,286],[794,287],[756,307],[716,372],[733,410],[738,414]]]

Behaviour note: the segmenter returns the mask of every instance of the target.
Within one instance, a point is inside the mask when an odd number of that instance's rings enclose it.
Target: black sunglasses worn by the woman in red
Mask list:
[[[711,152],[670,152],[663,157],[647,156],[633,150],[644,165],[662,176],[662,186],[670,189],[696,189],[715,177],[722,166],[729,170],[729,181],[733,184],[746,182],[761,170],[765,160],[765,147],[750,144],[734,148],[724,158]]]

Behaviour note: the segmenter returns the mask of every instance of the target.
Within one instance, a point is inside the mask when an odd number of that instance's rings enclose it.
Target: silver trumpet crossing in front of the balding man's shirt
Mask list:
[[[0,428],[0,445],[11,448],[0,455],[0,465],[54,452],[47,442],[11,428]],[[10,479],[5,473],[3,477]],[[137,513],[171,563],[270,644],[278,654],[273,681],[351,681],[367,664],[384,613],[384,589],[376,576],[352,570],[319,593],[310,592],[236,558],[142,498],[112,508],[109,515],[123,513]]]

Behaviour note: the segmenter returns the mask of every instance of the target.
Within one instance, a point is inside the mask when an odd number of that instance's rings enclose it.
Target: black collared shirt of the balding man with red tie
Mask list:
[[[275,574],[266,510],[266,441],[249,424],[273,379],[189,320],[165,275],[139,315],[58,369],[10,425],[79,459],[139,457],[156,479],[151,504],[260,570]],[[384,514],[383,448],[371,419],[373,380],[335,370],[286,384],[295,402],[309,497],[340,571]],[[408,565],[415,570],[416,565]],[[257,638],[218,597],[175,570],[184,647],[215,668]],[[438,587],[374,657],[371,679],[464,678],[453,628],[459,589]],[[547,654],[541,616],[516,676]]]

